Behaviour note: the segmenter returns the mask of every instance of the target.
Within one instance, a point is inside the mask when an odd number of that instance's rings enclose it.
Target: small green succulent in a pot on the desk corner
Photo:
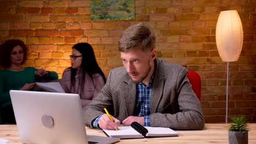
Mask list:
[[[229,125],[229,143],[247,144],[249,125],[245,116],[236,116],[231,118]]]

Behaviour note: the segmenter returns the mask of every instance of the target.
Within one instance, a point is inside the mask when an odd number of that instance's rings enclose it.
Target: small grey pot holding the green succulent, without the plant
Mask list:
[[[248,144],[248,131],[229,131],[229,144]]]

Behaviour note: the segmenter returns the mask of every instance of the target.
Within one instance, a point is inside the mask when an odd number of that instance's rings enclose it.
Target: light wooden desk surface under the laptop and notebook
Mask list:
[[[203,130],[176,130],[177,137],[120,140],[118,143],[228,143],[229,124],[205,124]],[[249,143],[256,143],[256,123],[251,123]],[[106,136],[101,130],[86,128],[88,135]],[[21,143],[16,125],[0,125],[0,138],[7,144]]]

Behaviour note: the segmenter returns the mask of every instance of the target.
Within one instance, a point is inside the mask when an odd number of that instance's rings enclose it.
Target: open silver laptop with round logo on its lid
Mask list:
[[[10,91],[22,143],[114,143],[119,139],[86,135],[78,94]]]

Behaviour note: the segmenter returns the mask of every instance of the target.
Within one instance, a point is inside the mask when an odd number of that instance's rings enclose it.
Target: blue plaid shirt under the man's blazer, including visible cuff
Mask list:
[[[145,86],[143,83],[138,83],[137,86],[137,99],[136,99],[136,115],[138,117],[143,117],[144,116],[144,126],[145,127],[150,127],[150,97],[152,94],[152,87],[153,87],[153,81],[154,81],[154,76],[150,80],[148,86]],[[98,116],[95,118],[94,121],[92,121],[92,125],[95,128],[98,127],[98,121],[100,121],[102,115]]]

